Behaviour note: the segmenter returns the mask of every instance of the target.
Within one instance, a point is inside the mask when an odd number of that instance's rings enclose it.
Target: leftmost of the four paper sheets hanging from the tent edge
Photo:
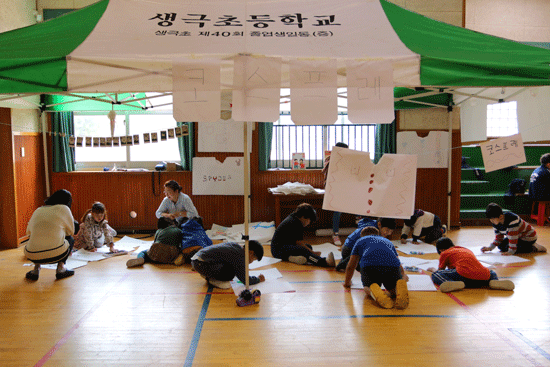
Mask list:
[[[174,61],[172,75],[176,121],[213,122],[220,119],[219,61]]]

